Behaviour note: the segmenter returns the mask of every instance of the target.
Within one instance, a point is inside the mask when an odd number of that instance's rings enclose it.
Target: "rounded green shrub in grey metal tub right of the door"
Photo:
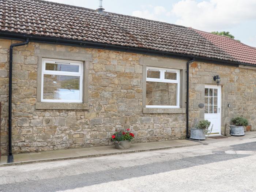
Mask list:
[[[235,117],[231,121],[233,125],[230,125],[230,135],[243,136],[244,126],[248,125],[248,120],[244,117]]]

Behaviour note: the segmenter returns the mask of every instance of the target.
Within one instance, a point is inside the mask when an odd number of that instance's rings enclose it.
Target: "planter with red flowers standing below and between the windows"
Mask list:
[[[134,134],[130,132],[130,129],[120,129],[112,135],[112,141],[117,149],[128,149],[131,147],[131,141],[134,138]]]

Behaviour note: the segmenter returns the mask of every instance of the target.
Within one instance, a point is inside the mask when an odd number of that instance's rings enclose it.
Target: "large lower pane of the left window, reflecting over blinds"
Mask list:
[[[78,76],[44,75],[43,99],[79,100]]]

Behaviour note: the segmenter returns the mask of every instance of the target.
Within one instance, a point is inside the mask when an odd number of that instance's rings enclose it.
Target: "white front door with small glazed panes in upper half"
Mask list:
[[[211,135],[221,135],[221,86],[205,85],[204,119],[213,125]]]

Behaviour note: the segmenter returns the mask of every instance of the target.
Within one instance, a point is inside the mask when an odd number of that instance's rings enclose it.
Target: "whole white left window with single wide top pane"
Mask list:
[[[83,63],[43,59],[41,102],[83,102]]]

